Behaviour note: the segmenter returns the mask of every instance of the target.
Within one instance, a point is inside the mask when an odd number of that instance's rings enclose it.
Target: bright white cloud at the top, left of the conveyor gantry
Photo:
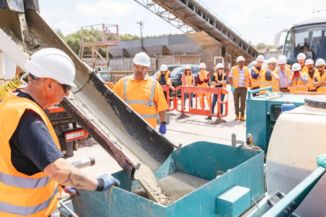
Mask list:
[[[120,3],[112,0],[103,0],[94,5],[77,3],[77,12],[89,18],[125,17],[132,12],[133,8],[130,4]]]

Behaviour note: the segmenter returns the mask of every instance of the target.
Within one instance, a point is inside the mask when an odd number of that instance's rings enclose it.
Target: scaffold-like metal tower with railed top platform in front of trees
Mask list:
[[[79,58],[93,69],[109,68],[109,47],[119,45],[118,25],[97,24],[82,27]],[[105,57],[99,52],[105,52]]]

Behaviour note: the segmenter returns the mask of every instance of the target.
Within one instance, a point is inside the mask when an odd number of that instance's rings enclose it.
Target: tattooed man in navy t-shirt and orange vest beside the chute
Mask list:
[[[0,216],[51,216],[63,185],[74,196],[75,187],[101,192],[118,186],[111,175],[96,179],[69,164],[43,111],[76,88],[70,57],[61,50],[44,48],[23,68],[30,76],[27,87],[8,91],[0,103]]]

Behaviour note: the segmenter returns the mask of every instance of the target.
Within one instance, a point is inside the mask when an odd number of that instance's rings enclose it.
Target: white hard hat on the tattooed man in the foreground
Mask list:
[[[38,50],[26,61],[24,68],[38,78],[51,78],[60,84],[76,88],[75,65],[62,50],[56,48]]]

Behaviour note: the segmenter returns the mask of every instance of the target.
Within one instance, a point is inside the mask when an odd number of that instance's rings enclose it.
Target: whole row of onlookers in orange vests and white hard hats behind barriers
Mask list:
[[[325,60],[318,59],[314,62],[312,59],[306,59],[304,53],[299,53],[297,56],[298,63],[294,63],[291,66],[287,64],[286,56],[279,55],[277,59],[274,57],[269,58],[266,68],[262,66],[264,60],[264,56],[257,56],[253,67],[248,69],[248,67],[244,65],[244,57],[239,56],[236,59],[237,65],[233,66],[230,70],[229,78],[227,74],[224,73],[224,65],[218,63],[212,79],[210,79],[209,72],[205,70],[205,63],[202,62],[199,64],[200,72],[197,76],[197,86],[210,87],[210,80],[212,85],[217,88],[226,88],[227,83],[230,83],[234,98],[236,121],[245,121],[245,100],[249,87],[254,90],[272,86],[272,92],[281,91],[284,93],[294,93],[298,91],[326,92]],[[162,72],[157,76],[157,80],[162,80],[164,84],[171,85],[171,75],[166,65],[161,66],[161,71]],[[181,80],[183,86],[195,86],[195,78],[189,65],[185,66],[185,71]],[[266,90],[253,93],[253,96],[265,92]],[[225,94],[226,92],[222,91],[222,102],[224,101]],[[211,105],[212,114],[214,114],[217,95],[213,94],[212,102],[210,94],[208,93],[199,93],[197,96],[200,101],[200,108],[203,107],[204,99],[206,98],[207,104],[209,106]],[[188,94],[185,94],[184,105],[187,98]],[[190,94],[189,103],[191,107],[193,107],[192,99],[193,94]],[[221,106],[220,112],[223,114],[223,106]],[[212,119],[212,117],[209,116],[206,119]]]

